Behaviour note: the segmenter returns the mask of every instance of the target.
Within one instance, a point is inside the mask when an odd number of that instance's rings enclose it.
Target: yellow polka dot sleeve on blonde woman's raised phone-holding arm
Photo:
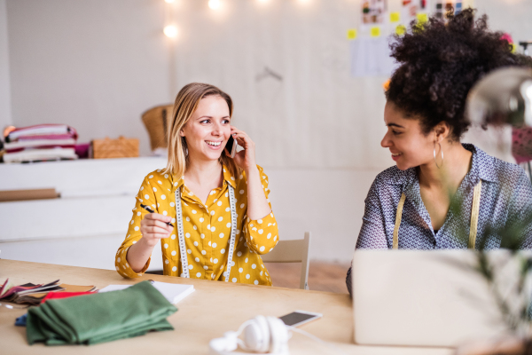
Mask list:
[[[262,179],[262,189],[268,203],[271,203],[268,196],[270,194],[270,189],[268,188],[268,176],[262,170],[262,167],[257,165],[259,173]],[[252,220],[249,217],[243,220],[243,231],[244,236],[246,237],[246,243],[248,248],[253,250],[256,254],[266,254],[269,253],[278,243],[278,225],[271,212],[266,217],[262,219]]]

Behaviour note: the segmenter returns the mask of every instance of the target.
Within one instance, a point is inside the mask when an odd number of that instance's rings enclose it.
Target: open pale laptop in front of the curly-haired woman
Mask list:
[[[357,250],[351,273],[355,343],[455,347],[505,335],[488,282],[473,271],[476,255],[471,250]],[[506,250],[488,255],[507,292],[517,280],[518,263],[505,264]]]

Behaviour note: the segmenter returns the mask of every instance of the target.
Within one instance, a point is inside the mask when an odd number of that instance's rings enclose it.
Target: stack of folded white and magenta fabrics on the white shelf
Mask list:
[[[77,159],[77,132],[66,124],[39,124],[12,130],[5,137],[4,162]]]

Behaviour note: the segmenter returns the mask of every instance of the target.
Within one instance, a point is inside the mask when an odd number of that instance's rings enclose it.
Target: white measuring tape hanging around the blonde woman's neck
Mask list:
[[[229,205],[231,209],[231,238],[229,242],[229,252],[227,255],[227,267],[223,276],[225,276],[225,282],[229,281],[229,276],[231,275],[231,266],[234,264],[232,261],[232,256],[235,251],[235,240],[237,236],[237,204],[235,201],[235,189],[232,185],[227,185],[229,188]],[[188,259],[186,244],[184,242],[184,229],[183,229],[183,211],[181,208],[181,188],[176,190],[176,221],[177,221],[177,235],[179,237],[179,253],[181,255],[181,277],[190,278],[188,268]]]

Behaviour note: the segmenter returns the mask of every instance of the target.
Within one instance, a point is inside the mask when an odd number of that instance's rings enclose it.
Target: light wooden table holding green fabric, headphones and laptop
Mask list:
[[[15,327],[17,317],[27,312],[0,307],[0,353],[2,354],[207,354],[208,342],[228,330],[237,330],[244,321],[258,314],[282,316],[294,310],[323,313],[323,319],[301,329],[336,349],[293,334],[289,349],[297,354],[409,354],[443,355],[450,349],[359,346],[353,343],[353,308],[347,295],[291,288],[271,288],[243,284],[188,280],[169,276],[145,275],[136,280],[121,278],[117,272],[100,269],[0,260],[0,282],[10,278],[16,285],[60,279],[73,285],[134,284],[141,280],[193,284],[196,291],[177,304],[178,312],[168,318],[174,331],[153,332],[136,338],[92,346],[27,345],[26,328]]]

